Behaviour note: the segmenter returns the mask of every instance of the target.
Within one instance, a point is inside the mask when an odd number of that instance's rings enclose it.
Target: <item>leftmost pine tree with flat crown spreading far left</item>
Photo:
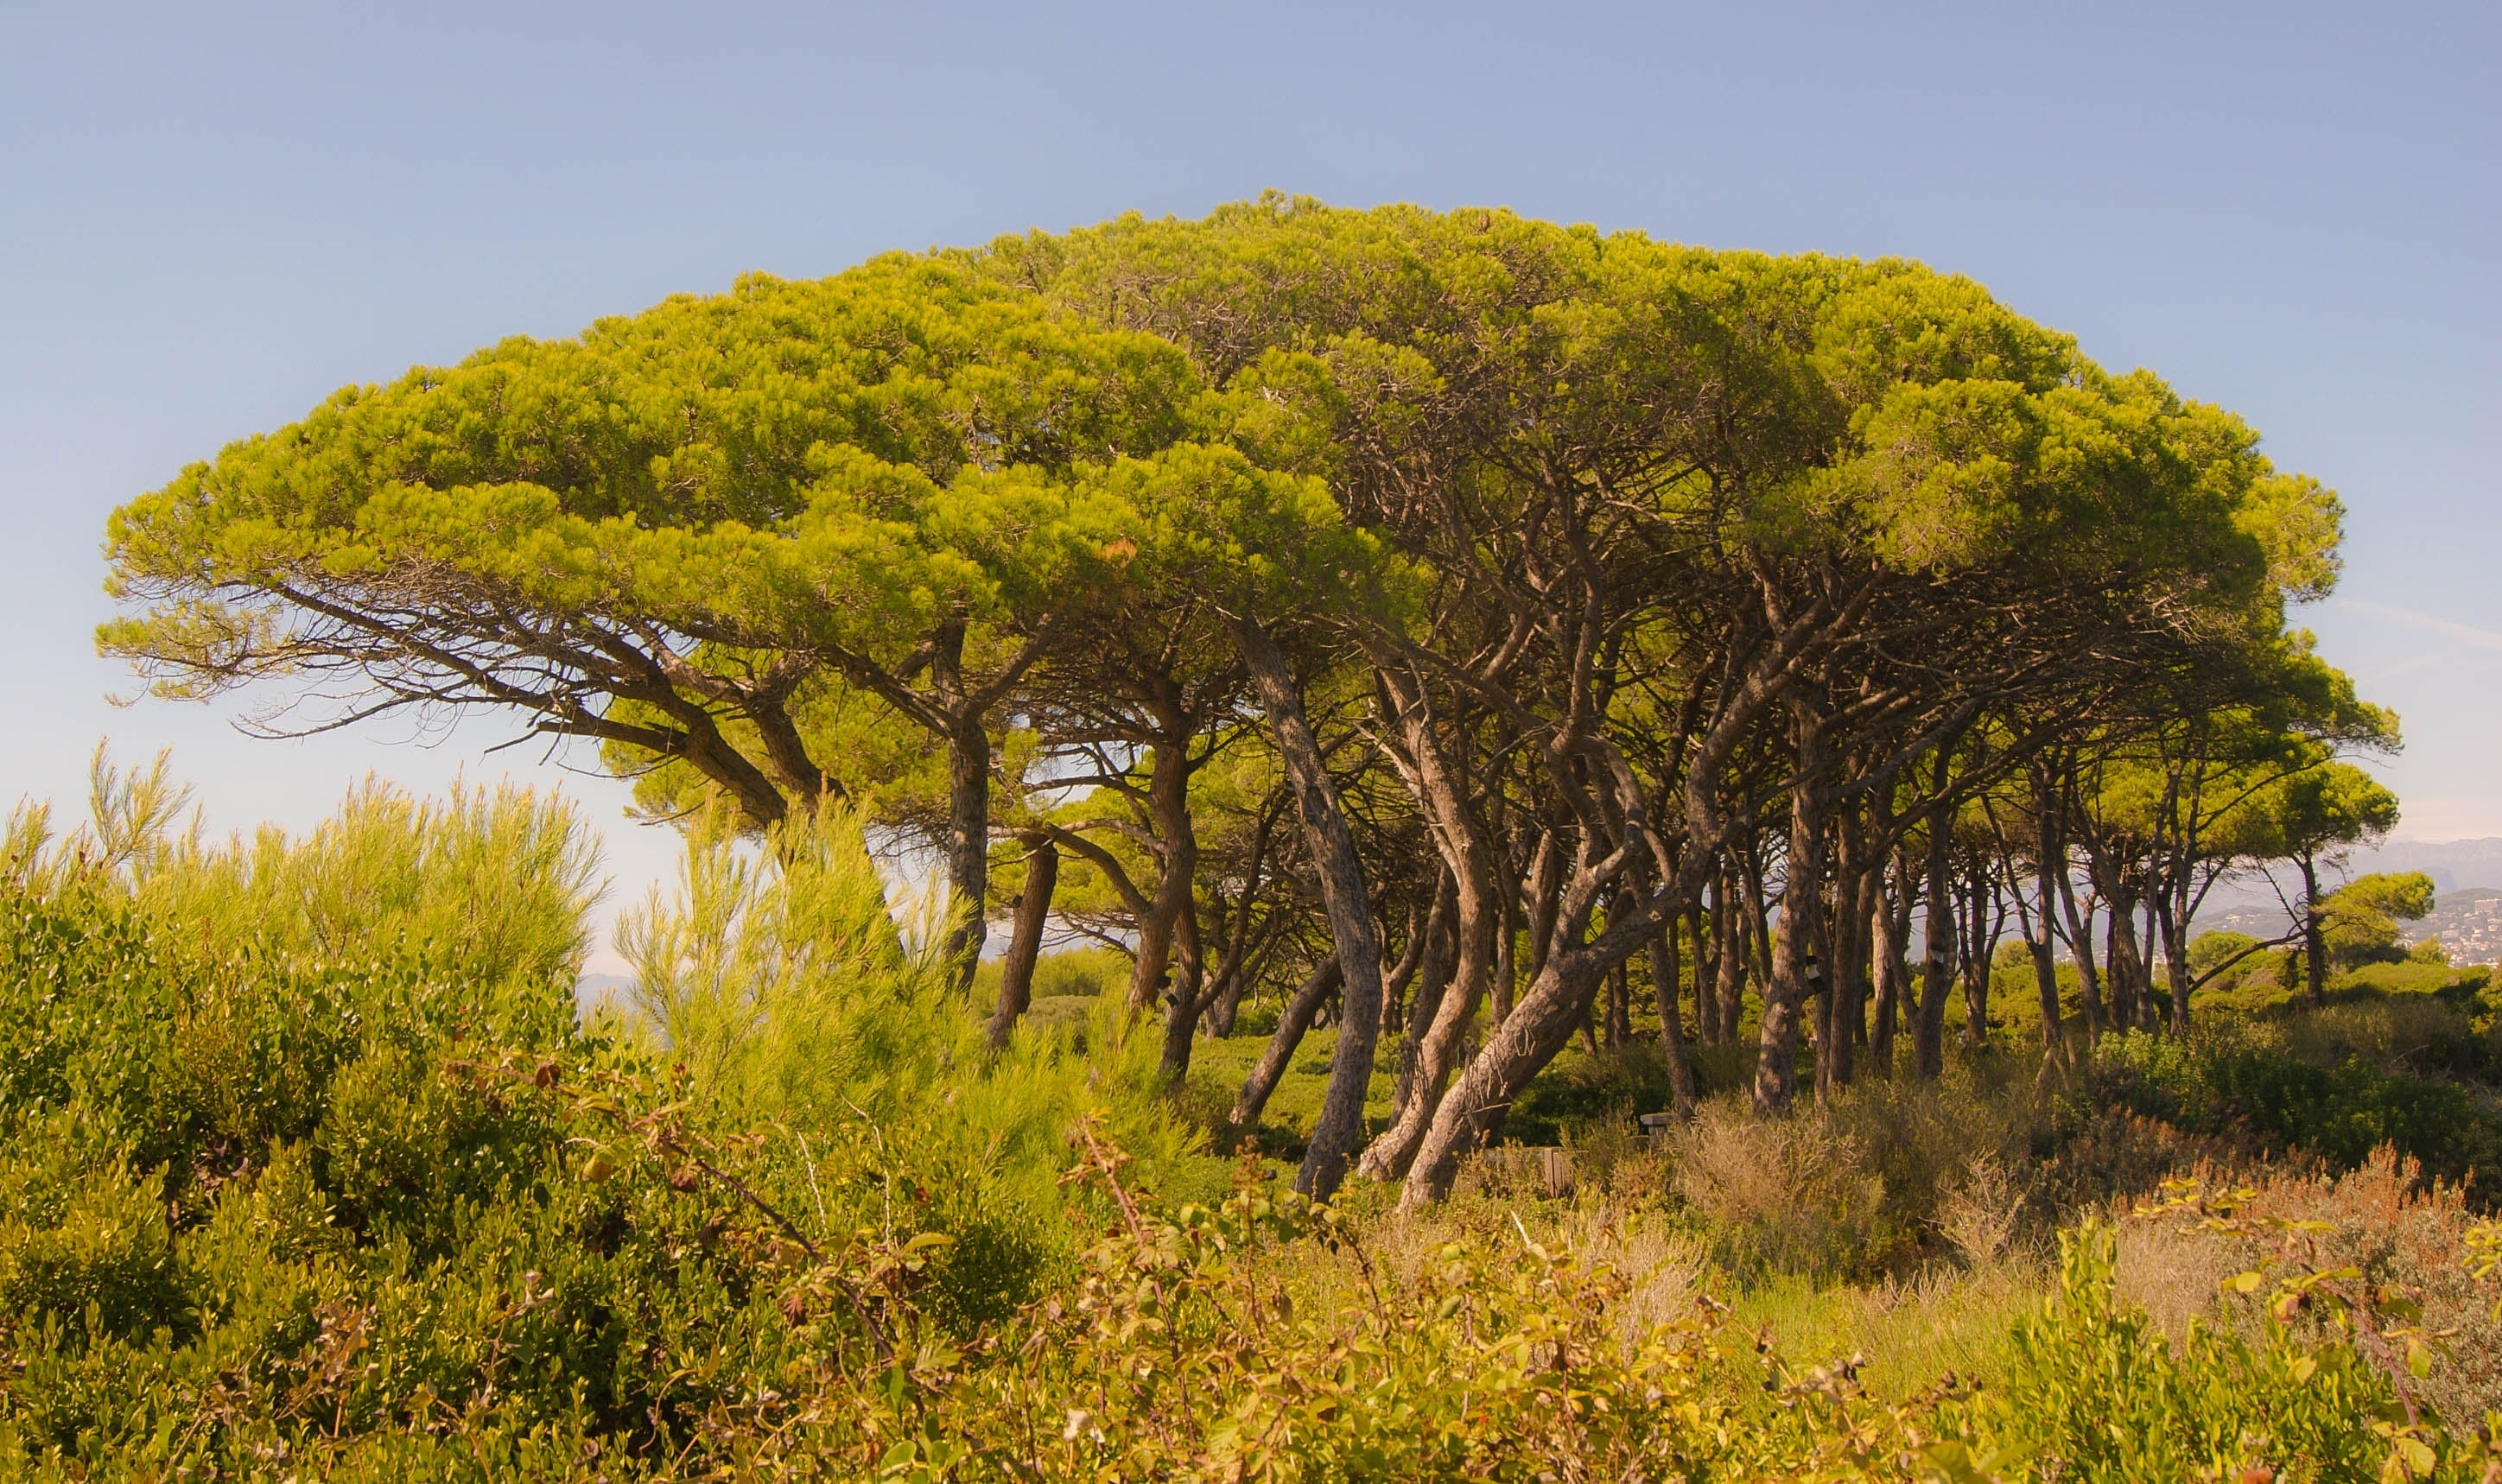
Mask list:
[[[946,756],[971,968],[998,713],[1118,538],[1091,470],[1168,445],[1188,395],[1168,345],[943,263],[756,275],[183,470],[113,516],[140,611],[103,648],[170,696],[260,683],[265,731],[515,713],[756,826],[863,783],[823,718],[873,698]]]

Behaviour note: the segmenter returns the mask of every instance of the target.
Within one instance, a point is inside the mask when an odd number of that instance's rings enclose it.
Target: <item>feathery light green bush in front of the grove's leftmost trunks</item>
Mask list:
[[[966,1319],[1006,1314],[1068,1256],[1058,1176],[1081,1114],[1106,1116],[1156,1171],[1188,1154],[1183,1124],[1151,1091],[1156,1049],[1118,1031],[1118,996],[1081,999],[1068,1019],[1028,1016],[993,1056],[948,968],[906,948],[838,808],[756,843],[718,821],[698,831],[676,901],[656,891],[618,941],[636,961],[646,1051],[683,1066],[691,1094],[816,1149],[868,1141],[873,1164],[913,1171],[901,1209],[886,1184],[861,1199],[876,1201],[881,1231],[958,1239],[931,1261]],[[871,1221],[821,1176],[798,1184],[828,1229]]]

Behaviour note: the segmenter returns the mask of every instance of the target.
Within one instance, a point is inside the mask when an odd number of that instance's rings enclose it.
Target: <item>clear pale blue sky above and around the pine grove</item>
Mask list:
[[[2342,490],[2307,611],[2399,833],[2502,836],[2502,8],[0,5],[0,796],[175,746],[210,821],[473,721],[260,743],[93,656],[105,513],[330,388],[748,268],[1284,188],[1967,273]]]

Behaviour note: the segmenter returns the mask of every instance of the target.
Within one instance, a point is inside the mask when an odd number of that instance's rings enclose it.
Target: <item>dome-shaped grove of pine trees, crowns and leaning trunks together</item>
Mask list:
[[[345,388],[113,516],[103,646],[273,731],[510,713],[653,816],[843,801],[966,976],[1013,918],[993,1041],[1061,921],[1166,1079],[1326,1011],[1301,1186],[1424,1204],[1629,966],[1761,1114],[1934,1076],[2007,938],[2054,1064],[2184,1031],[2207,891],[2394,816],[2287,621],[2339,518],[1912,263],[1264,198]]]

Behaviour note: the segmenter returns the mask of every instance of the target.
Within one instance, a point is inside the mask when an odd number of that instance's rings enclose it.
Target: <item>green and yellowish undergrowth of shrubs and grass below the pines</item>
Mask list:
[[[698,836],[633,918],[636,1019],[580,1024],[563,808],[365,791],[210,843],[103,793],[0,863],[13,1476],[2492,1464],[2474,994],[2117,1039],[2047,1081],[1962,1049],[1779,1121],[1706,1049],[1704,1109],[1649,1144],[1656,1059],[1574,1049],[1509,1129],[1574,1149],[1569,1196],[1481,1159],[1434,1211],[1311,1209],[1261,1149],[1309,1126],[1329,1031],[1243,1154],[1211,1136],[1261,1039],[1161,1096],[1101,958],[991,1056],[841,821]]]

